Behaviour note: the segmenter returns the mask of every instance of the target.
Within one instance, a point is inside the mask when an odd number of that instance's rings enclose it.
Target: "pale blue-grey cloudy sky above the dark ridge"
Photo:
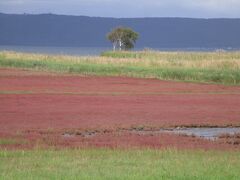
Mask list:
[[[240,0],[0,0],[4,13],[240,18]]]

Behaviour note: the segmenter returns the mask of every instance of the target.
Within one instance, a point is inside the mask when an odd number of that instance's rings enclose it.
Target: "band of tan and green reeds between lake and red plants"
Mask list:
[[[105,52],[100,57],[0,52],[0,67],[82,75],[240,84],[240,52]]]

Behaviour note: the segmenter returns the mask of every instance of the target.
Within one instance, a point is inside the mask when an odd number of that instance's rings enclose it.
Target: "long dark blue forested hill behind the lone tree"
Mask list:
[[[111,46],[116,26],[139,32],[137,47],[240,47],[240,19],[100,18],[53,14],[0,14],[0,45]]]

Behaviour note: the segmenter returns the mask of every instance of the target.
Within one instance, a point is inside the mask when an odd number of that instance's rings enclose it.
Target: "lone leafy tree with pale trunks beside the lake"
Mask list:
[[[130,28],[117,27],[107,34],[107,38],[113,44],[113,50],[129,50],[134,47],[138,39],[138,33]]]

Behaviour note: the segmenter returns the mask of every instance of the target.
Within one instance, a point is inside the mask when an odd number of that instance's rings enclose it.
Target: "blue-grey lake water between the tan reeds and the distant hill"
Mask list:
[[[134,50],[143,50],[145,48],[135,48]],[[218,48],[150,48],[159,51],[199,51],[211,52],[218,51]],[[76,56],[98,56],[104,51],[111,50],[111,47],[48,47],[48,46],[1,46],[0,51],[17,51],[27,53],[42,54],[60,54],[60,55],[76,55]],[[236,51],[239,48],[223,48],[224,51]]]

